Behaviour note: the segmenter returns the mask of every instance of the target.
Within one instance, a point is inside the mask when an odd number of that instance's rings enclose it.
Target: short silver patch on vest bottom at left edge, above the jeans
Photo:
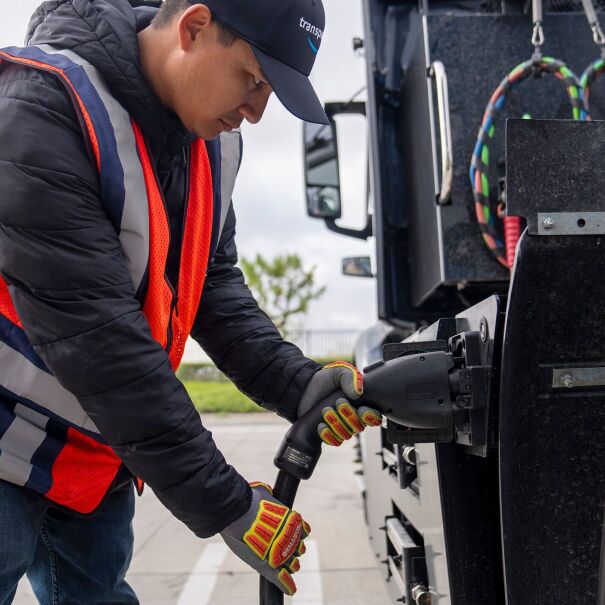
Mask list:
[[[48,419],[21,404],[15,419],[0,439],[0,479],[25,485],[31,475],[31,459],[46,438]]]

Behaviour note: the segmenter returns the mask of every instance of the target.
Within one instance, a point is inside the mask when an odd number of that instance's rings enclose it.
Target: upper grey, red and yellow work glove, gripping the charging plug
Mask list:
[[[349,403],[363,394],[363,374],[346,361],[329,363],[313,375],[298,404],[298,418],[335,391],[342,391],[347,399],[340,398],[333,407],[323,409],[323,422],[317,426],[317,432],[324,443],[339,446],[366,426],[382,424],[379,411],[367,406],[355,410]]]

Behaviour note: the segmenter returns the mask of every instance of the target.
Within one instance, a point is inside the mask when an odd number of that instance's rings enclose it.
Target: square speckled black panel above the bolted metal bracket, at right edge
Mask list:
[[[605,122],[509,120],[508,207],[537,233],[539,212],[605,210]]]

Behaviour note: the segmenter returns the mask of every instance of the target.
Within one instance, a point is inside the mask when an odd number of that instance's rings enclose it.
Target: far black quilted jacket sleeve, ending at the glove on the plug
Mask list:
[[[230,206],[192,336],[241,391],[294,422],[301,394],[321,366],[284,341],[259,308],[236,263],[235,214]]]

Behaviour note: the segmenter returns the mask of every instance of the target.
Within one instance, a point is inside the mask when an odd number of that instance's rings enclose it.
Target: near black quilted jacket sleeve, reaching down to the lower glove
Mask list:
[[[176,517],[198,536],[222,530],[250,488],[151,337],[54,76],[0,75],[0,184],[0,271],[31,344]]]

